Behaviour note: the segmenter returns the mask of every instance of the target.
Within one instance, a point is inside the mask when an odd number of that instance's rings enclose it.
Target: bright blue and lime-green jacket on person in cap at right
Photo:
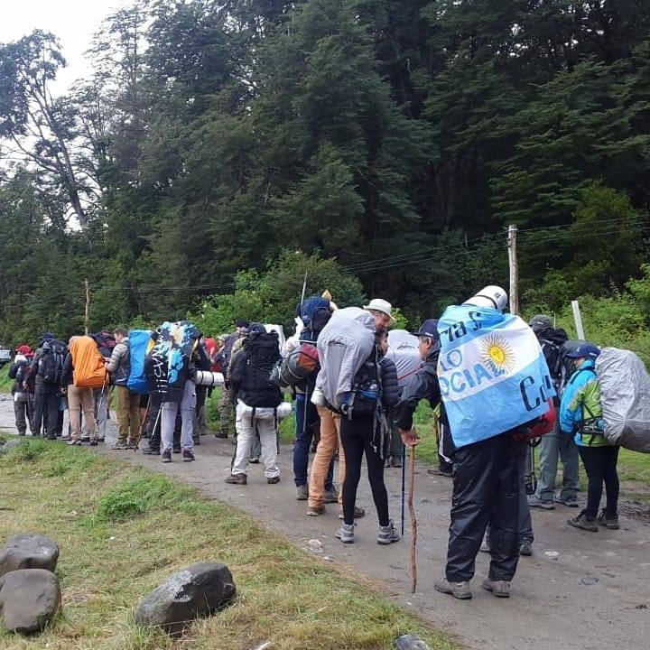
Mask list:
[[[583,427],[582,422],[587,421]],[[560,428],[573,433],[580,447],[606,447],[608,441],[601,433],[605,429],[600,406],[600,385],[595,364],[584,361],[571,375],[562,393],[560,404]]]

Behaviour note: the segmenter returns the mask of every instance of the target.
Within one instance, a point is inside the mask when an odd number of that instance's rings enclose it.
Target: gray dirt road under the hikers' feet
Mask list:
[[[111,421],[114,422],[114,421]],[[0,428],[13,429],[12,404],[0,395]],[[362,478],[358,503],[367,516],[357,526],[357,541],[344,546],[334,537],[337,508],[320,517],[305,515],[306,504],[295,500],[291,475],[292,451],[283,446],[282,480],[269,486],[259,465],[252,466],[246,487],[228,486],[232,446],[203,437],[196,462],[163,465],[159,459],[132,451],[102,453],[168,473],[197,486],[207,496],[240,507],[269,528],[309,548],[317,539],[322,552],[313,562],[339,562],[383,586],[395,601],[413,607],[436,627],[457,636],[471,648],[484,650],[610,650],[650,647],[650,526],[622,518],[620,531],[582,533],[567,525],[575,510],[558,506],[534,512],[534,555],[522,558],[509,600],[495,599],[480,589],[488,557],[479,553],[473,580],[474,599],[460,601],[432,588],[444,571],[450,510],[450,481],[432,478],[420,465],[415,477],[418,515],[418,589],[410,590],[410,538],[389,547],[376,543],[376,517],[367,479]],[[386,470],[391,516],[400,519],[399,469]]]

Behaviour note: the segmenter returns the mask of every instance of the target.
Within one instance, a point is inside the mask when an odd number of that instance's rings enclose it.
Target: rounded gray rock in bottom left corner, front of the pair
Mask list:
[[[0,578],[0,613],[10,632],[41,632],[59,609],[59,579],[51,571],[21,569]]]

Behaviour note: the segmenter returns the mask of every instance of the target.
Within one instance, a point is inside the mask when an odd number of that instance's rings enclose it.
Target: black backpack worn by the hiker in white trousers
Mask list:
[[[277,334],[255,334],[246,339],[244,349],[239,354],[244,358],[240,360],[237,357],[235,367],[238,376],[232,379],[240,386],[242,402],[259,408],[277,407],[282,402],[282,393],[271,381],[271,371],[280,358]]]

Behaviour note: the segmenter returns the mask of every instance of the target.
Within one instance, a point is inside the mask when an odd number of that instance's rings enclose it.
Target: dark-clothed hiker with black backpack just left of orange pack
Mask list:
[[[32,415],[32,435],[56,440],[59,424],[59,404],[63,364],[68,348],[56,339],[51,332],[45,332],[36,349],[30,365],[28,383],[33,385],[34,404]]]

